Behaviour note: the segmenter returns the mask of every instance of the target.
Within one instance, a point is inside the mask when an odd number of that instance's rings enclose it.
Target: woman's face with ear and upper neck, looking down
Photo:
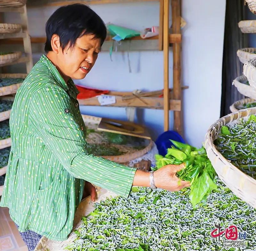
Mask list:
[[[67,46],[63,52],[59,46],[57,66],[65,81],[69,78],[83,79],[90,72],[101,50],[100,42],[100,38],[84,35],[76,40],[72,48]]]

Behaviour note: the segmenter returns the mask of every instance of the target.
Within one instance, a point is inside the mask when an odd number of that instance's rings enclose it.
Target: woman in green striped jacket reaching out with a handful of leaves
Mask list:
[[[72,79],[90,72],[106,35],[103,21],[88,6],[60,7],[46,23],[47,56],[17,91],[1,206],[10,209],[29,250],[42,235],[67,239],[84,187],[95,200],[92,183],[126,198],[132,185],[169,191],[189,186],[178,185],[175,175],[183,165],[168,165],[153,175],[88,154]]]

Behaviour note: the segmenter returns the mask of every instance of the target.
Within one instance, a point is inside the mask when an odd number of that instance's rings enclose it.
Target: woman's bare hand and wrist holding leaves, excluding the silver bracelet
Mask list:
[[[184,187],[190,186],[190,183],[188,181],[180,180],[176,176],[177,171],[184,167],[185,163],[180,165],[167,165],[155,171],[154,181],[156,187],[174,192],[179,191]],[[141,170],[136,170],[132,185],[150,187],[149,173],[143,172]]]

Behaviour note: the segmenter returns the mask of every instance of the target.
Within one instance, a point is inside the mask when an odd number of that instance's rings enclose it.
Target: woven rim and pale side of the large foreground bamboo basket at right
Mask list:
[[[251,114],[256,114],[256,108],[248,108],[228,114],[217,120],[205,135],[205,149],[216,173],[228,188],[241,200],[256,208],[256,180],[240,171],[218,152],[213,141],[217,138],[224,125],[239,123],[240,119],[247,120]]]

